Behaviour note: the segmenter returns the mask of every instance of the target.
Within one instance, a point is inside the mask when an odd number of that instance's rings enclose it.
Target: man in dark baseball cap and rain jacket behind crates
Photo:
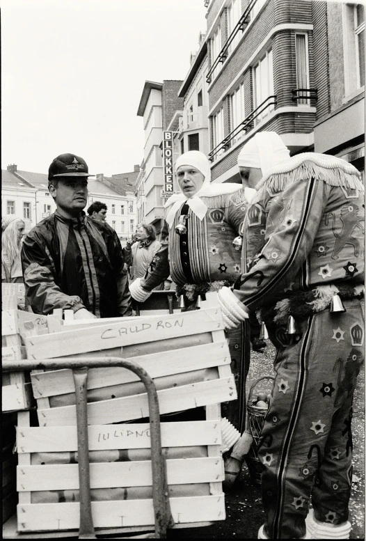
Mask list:
[[[105,221],[86,217],[88,165],[62,154],[49,166],[56,212],[24,239],[22,267],[33,312],[71,309],[75,319],[132,315],[122,247]]]

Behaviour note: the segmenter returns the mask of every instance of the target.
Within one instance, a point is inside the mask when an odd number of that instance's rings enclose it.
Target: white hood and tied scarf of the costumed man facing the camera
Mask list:
[[[186,202],[189,205],[194,214],[202,221],[207,212],[207,205],[202,201],[201,197],[213,197],[224,194],[233,194],[235,191],[243,189],[240,184],[234,184],[230,182],[225,182],[223,184],[211,184],[211,170],[209,167],[209,161],[203,152],[198,150],[190,150],[189,152],[184,152],[175,162],[175,172],[182,165],[193,166],[202,175],[205,176],[202,187],[194,194],[192,197],[186,197],[184,194],[174,194],[166,204],[164,208],[167,210],[166,221],[169,228],[173,226],[173,221],[175,214],[180,209],[182,203]],[[170,207],[170,208],[169,208]]]

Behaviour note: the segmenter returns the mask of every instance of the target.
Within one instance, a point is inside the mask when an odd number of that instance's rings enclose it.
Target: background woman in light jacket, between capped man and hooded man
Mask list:
[[[154,226],[150,224],[141,224],[137,228],[136,241],[131,246],[132,267],[130,269],[130,276],[132,282],[138,278],[143,278],[155,253],[161,248]]]

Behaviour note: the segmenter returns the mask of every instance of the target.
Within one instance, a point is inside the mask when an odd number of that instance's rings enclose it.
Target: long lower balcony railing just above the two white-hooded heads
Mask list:
[[[219,156],[221,156],[223,153],[225,153],[229,148],[232,147],[234,143],[236,143],[236,139],[239,137],[239,135],[244,132],[246,134],[250,130],[257,125],[261,120],[263,120],[266,116],[271,113],[271,111],[274,110],[276,107],[276,96],[272,95],[266,98],[264,102],[262,102],[250,115],[248,115],[243,122],[241,122],[237,127],[234,128],[228,134],[224,137],[224,139],[218,143],[218,145],[215,146],[209,152],[209,160],[211,162],[214,162]]]

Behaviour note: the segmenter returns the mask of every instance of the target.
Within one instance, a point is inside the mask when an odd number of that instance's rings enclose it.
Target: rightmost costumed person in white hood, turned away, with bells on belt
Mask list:
[[[232,294],[257,311],[277,347],[258,451],[258,537],[348,539],[365,189],[357,169],[331,155],[305,152],[263,171],[281,143],[262,132],[244,146],[241,178],[257,195],[246,219],[250,269]]]

